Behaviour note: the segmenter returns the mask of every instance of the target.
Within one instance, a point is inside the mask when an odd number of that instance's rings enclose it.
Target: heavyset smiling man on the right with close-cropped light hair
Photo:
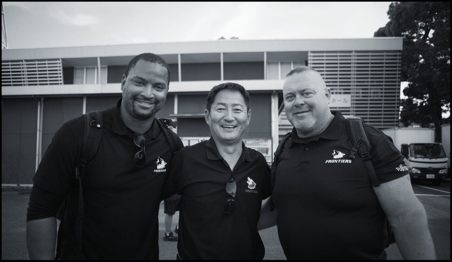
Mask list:
[[[348,157],[346,120],[329,110],[331,91],[322,76],[308,66],[293,69],[283,96],[294,129],[273,163],[273,201],[262,207],[259,229],[278,226],[286,258],[384,260],[387,218],[404,259],[435,259],[425,209],[407,169],[399,168],[403,156],[390,137],[364,125],[378,181],[374,187],[364,160]]]

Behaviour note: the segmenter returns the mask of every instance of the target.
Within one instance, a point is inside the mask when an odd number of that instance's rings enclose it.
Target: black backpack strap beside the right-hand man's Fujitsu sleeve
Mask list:
[[[371,154],[369,153],[371,145],[366,131],[364,130],[364,120],[358,117],[351,117],[345,120],[347,131],[350,136],[350,140],[353,144],[350,149],[349,158],[355,158],[355,154],[358,152],[361,158],[363,158],[366,165],[367,172],[372,182],[372,186],[378,187],[377,174],[375,173],[374,165],[372,165]]]

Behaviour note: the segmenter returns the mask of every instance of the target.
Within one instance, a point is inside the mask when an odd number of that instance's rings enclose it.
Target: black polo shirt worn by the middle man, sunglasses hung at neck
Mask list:
[[[227,215],[226,182],[237,183],[235,211]],[[181,149],[173,159],[169,187],[181,195],[179,241],[182,260],[262,260],[259,233],[262,199],[270,196],[270,168],[264,156],[245,147],[231,172],[214,139]],[[248,184],[247,182],[253,181]]]

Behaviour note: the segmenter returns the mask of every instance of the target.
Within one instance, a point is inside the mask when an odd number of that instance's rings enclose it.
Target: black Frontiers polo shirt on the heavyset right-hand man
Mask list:
[[[321,134],[287,140],[272,194],[278,234],[287,259],[385,259],[385,215],[341,113]],[[365,125],[380,183],[404,175],[403,156],[389,137]],[[398,169],[397,169],[398,168]]]

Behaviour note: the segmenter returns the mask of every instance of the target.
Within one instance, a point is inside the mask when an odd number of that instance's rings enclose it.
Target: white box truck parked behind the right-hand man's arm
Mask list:
[[[448,158],[441,143],[435,143],[435,130],[429,128],[392,128],[389,135],[405,157],[411,180],[428,180],[440,185],[450,178]]]

